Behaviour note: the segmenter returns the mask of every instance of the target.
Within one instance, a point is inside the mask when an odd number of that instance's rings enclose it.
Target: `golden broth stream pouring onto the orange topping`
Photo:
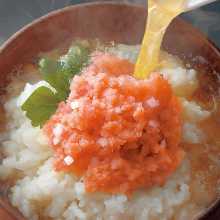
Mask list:
[[[163,36],[171,21],[184,11],[185,0],[148,0],[148,19],[134,76],[144,79],[158,66]]]

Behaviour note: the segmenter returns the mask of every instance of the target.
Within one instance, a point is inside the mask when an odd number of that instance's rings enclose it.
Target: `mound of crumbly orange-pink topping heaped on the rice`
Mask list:
[[[183,159],[178,99],[162,76],[138,80],[133,69],[127,60],[94,55],[44,126],[56,170],[83,176],[88,192],[162,185]]]

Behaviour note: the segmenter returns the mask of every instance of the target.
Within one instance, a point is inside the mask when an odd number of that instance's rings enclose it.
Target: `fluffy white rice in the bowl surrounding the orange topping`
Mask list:
[[[131,48],[126,47],[126,50],[130,51]],[[123,57],[123,53],[121,51],[120,56]],[[128,54],[126,58],[129,58]],[[194,70],[185,70],[180,61],[176,61],[170,55],[167,55],[167,60],[171,69],[162,69],[161,72],[174,88],[184,88],[187,86],[187,80],[195,83],[197,79]],[[17,88],[17,84],[25,81],[21,80],[23,77],[25,76],[18,77],[9,86],[8,93],[13,95],[8,97],[5,103],[8,123],[6,132],[0,134],[5,155],[0,165],[0,177],[5,179],[15,173],[22,176],[12,187],[10,200],[27,219],[165,220],[173,216],[187,216],[187,201],[191,196],[190,162],[187,157],[163,187],[139,190],[131,198],[104,193],[88,194],[85,192],[82,179],[55,172],[52,167],[53,153],[48,146],[47,138],[40,128],[32,127],[19,107],[25,94],[23,93],[21,98],[18,91],[12,91],[13,88]],[[30,92],[29,88],[32,89],[33,86],[25,87],[27,94]],[[185,115],[183,140],[199,143],[204,134],[197,123],[209,117],[210,113],[186,99],[182,99],[182,103]],[[151,124],[156,126],[153,122]],[[60,127],[55,128],[57,136],[61,130]],[[71,158],[66,158],[66,162],[71,163]],[[181,215],[178,214],[180,206],[181,210],[184,210]],[[180,217],[179,219],[182,218]]]

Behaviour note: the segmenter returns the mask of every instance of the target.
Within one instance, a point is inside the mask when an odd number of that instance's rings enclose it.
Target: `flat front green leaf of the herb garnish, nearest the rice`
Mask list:
[[[41,86],[37,88],[21,106],[34,127],[43,124],[56,111],[59,99],[51,89]]]

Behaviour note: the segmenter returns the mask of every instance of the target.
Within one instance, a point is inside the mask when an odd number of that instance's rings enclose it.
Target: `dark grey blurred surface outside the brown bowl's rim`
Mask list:
[[[119,0],[117,0],[118,2]],[[0,44],[13,33],[34,19],[50,11],[68,5],[92,2],[89,0],[0,0]],[[122,0],[144,4],[146,0]],[[199,28],[218,47],[220,47],[220,1],[188,12],[182,17]],[[220,212],[220,210],[219,210]],[[215,213],[209,220],[220,219],[220,213]],[[206,219],[207,220],[207,219]]]

